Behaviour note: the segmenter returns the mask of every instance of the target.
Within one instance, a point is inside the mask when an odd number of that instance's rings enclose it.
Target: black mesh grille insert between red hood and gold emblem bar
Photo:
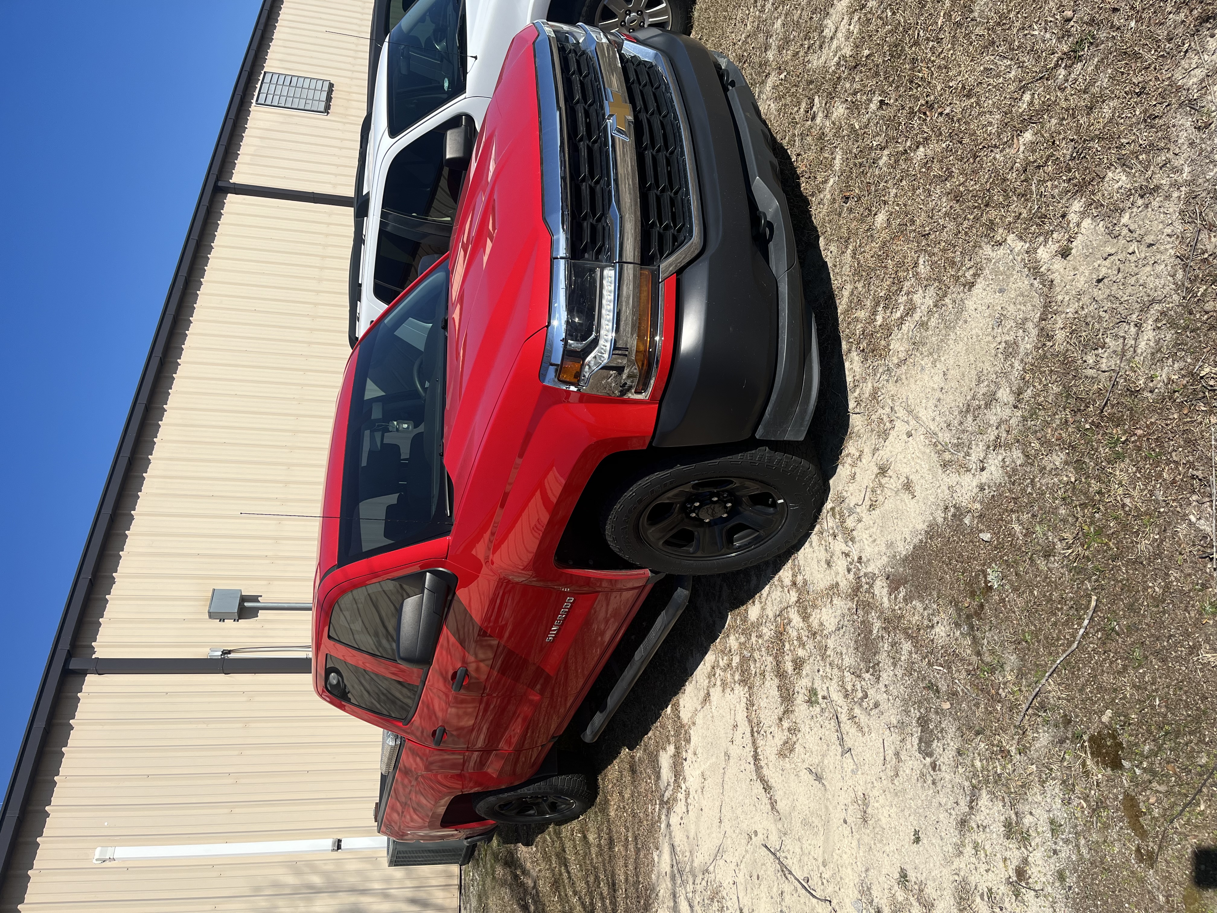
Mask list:
[[[560,41],[557,61],[565,96],[571,259],[611,263],[612,170],[600,73],[578,45]]]

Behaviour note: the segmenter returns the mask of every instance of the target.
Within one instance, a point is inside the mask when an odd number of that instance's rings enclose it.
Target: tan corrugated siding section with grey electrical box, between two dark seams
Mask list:
[[[309,640],[304,612],[220,624],[207,601],[213,587],[312,595],[333,399],[350,354],[350,213],[230,196],[213,224],[79,655],[206,656],[209,645]]]

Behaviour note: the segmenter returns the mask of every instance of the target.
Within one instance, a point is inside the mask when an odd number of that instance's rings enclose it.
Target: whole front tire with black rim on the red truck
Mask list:
[[[607,499],[605,539],[639,567],[725,573],[780,555],[824,503],[819,466],[802,450],[690,453],[651,465]]]

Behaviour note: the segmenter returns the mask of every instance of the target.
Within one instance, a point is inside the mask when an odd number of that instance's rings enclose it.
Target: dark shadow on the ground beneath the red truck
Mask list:
[[[812,207],[803,194],[798,172],[786,149],[774,140],[774,152],[781,167],[783,190],[790,206],[795,243],[803,271],[803,295],[815,314],[820,353],[820,390],[815,414],[806,443],[814,447],[828,486],[836,475],[849,432],[849,391],[846,383],[841,325],[836,292],[828,262],[820,250],[820,233],[812,218]],[[602,773],[624,750],[639,746],[660,716],[685,687],[692,673],[714,645],[731,612],[747,605],[778,575],[793,551],[755,567],[714,577],[697,577],[689,606],[668,634],[626,702],[608,723],[600,740],[584,745],[578,736],[581,715],[562,735],[559,747],[577,752],[589,773]],[[645,612],[640,612],[645,615]],[[628,635],[627,638],[628,639]],[[532,846],[546,830],[544,825],[500,825],[498,841]]]

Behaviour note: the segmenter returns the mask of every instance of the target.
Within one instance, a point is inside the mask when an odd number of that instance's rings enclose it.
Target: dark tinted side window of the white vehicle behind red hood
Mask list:
[[[444,134],[424,134],[393,158],[381,197],[374,292],[386,304],[448,250],[461,173],[444,167]],[[428,261],[430,262],[430,261]]]

